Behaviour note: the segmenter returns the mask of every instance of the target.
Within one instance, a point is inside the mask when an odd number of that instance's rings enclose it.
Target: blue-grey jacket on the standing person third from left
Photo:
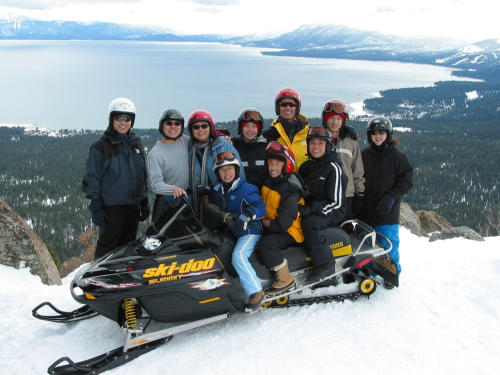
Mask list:
[[[199,159],[196,157],[196,145],[191,144],[189,147],[189,160],[190,160],[190,180],[189,185],[191,189],[195,191],[198,185],[210,185],[215,186],[218,182],[217,177],[213,171],[214,160],[217,155],[221,152],[229,151],[232,152],[241,164],[241,158],[238,151],[234,146],[226,141],[224,137],[217,137],[213,142],[209,142],[206,149],[206,173],[205,176],[201,175],[202,165]],[[244,168],[240,168],[240,177],[245,177]]]

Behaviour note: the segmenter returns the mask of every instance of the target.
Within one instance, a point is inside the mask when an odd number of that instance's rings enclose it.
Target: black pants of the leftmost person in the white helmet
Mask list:
[[[139,226],[139,205],[104,206],[104,210],[106,224],[99,228],[94,259],[135,240]]]

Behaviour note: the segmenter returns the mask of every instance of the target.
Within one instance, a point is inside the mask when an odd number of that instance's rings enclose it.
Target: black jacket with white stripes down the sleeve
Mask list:
[[[329,216],[333,223],[340,223],[345,216],[347,176],[337,153],[332,151],[320,159],[310,158],[300,166],[299,176],[309,188],[306,212]]]

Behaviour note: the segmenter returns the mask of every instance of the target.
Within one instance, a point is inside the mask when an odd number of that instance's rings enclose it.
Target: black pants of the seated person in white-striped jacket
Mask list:
[[[316,269],[323,270],[335,264],[324,229],[336,224],[329,216],[309,215],[302,218],[304,243],[311,257],[311,263]]]

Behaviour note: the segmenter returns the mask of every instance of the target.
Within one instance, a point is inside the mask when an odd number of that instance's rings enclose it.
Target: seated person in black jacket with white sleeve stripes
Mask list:
[[[309,188],[309,195],[300,213],[304,242],[313,264],[307,283],[313,283],[335,272],[335,260],[324,229],[344,220],[347,176],[327,129],[309,129],[307,153],[309,160],[300,167],[299,176]]]

